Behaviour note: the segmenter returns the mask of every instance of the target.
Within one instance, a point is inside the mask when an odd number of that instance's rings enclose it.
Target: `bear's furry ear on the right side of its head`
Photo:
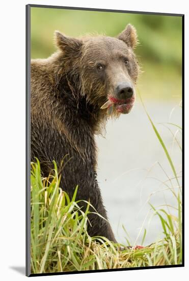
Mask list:
[[[132,49],[135,48],[138,43],[137,31],[130,24],[126,26],[126,28],[117,36],[117,38],[125,42]]]

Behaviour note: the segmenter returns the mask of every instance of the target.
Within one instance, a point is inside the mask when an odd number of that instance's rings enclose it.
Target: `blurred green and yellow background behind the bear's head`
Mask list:
[[[181,99],[182,18],[114,12],[31,8],[31,57],[56,51],[53,32],[116,36],[130,23],[140,44],[136,49],[143,73],[138,89],[149,99]]]

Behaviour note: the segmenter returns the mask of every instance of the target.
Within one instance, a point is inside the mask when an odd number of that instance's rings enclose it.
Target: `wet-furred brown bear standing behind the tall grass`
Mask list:
[[[37,157],[44,176],[55,160],[61,188],[95,207],[88,233],[116,242],[97,182],[95,134],[109,116],[128,113],[134,103],[139,65],[130,24],[117,38],[71,38],[55,32],[58,51],[31,62],[31,160]]]

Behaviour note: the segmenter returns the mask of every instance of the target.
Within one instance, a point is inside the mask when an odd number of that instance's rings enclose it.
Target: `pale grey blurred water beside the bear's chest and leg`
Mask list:
[[[176,134],[181,143],[181,133],[172,125],[158,123],[175,123],[181,126],[181,107],[177,101],[145,102],[148,113],[155,123],[172,157],[177,172],[181,171],[181,150],[173,142]],[[105,138],[97,136],[98,145],[98,182],[101,188],[104,205],[113,227],[115,236],[120,243],[126,243],[125,231],[132,245],[136,242],[140,228],[144,223],[147,228],[145,245],[163,236],[160,220],[151,216],[150,203],[155,207],[169,204],[177,207],[175,197],[167,181],[173,177],[168,159],[161,147],[141,103],[119,120],[110,120],[106,126]],[[166,175],[167,174],[167,175]],[[173,186],[177,183],[173,180]],[[164,191],[163,191],[164,190]],[[177,192],[178,189],[175,189]],[[151,195],[151,196],[150,196]],[[169,208],[172,214],[176,211]],[[145,221],[146,219],[146,221]],[[144,229],[137,241],[141,243]]]

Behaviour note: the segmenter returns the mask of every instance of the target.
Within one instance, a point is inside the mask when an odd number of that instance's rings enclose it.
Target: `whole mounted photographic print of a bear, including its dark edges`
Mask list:
[[[26,275],[180,267],[181,14],[26,6]]]

